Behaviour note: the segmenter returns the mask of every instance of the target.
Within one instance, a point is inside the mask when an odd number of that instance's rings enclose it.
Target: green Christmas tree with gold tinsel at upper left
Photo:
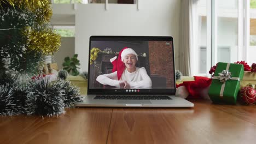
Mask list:
[[[61,39],[49,25],[49,0],[0,0],[0,8],[0,79],[40,74]]]

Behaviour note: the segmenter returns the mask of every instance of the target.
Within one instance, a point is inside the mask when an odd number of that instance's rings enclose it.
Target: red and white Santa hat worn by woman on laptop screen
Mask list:
[[[120,80],[122,74],[123,74],[123,71],[125,69],[125,64],[123,63],[122,59],[124,59],[124,57],[126,55],[129,55],[129,54],[133,54],[136,56],[137,60],[138,60],[138,55],[137,53],[132,50],[131,48],[128,48],[128,47],[124,47],[120,52],[119,52],[119,55],[118,57],[115,56],[113,58],[110,59],[110,62],[113,64],[113,69],[112,69],[112,72],[114,73],[115,71],[117,71],[117,75],[118,75],[118,80]]]

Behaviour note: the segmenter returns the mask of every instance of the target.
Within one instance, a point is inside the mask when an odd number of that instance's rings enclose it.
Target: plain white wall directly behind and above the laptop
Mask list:
[[[83,71],[88,70],[91,35],[172,36],[174,50],[179,47],[180,0],[140,0],[136,4],[78,4],[75,11],[75,53]],[[177,64],[176,64],[177,65]]]

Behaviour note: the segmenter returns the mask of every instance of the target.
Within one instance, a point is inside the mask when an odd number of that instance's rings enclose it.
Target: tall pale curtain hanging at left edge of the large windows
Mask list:
[[[180,33],[179,33],[179,62],[178,68],[185,76],[190,76],[190,47],[191,47],[191,0],[181,0]]]

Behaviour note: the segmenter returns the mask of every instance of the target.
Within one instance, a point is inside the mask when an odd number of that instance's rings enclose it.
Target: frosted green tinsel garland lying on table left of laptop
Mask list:
[[[64,108],[80,101],[79,88],[69,81],[55,80],[53,75],[34,76],[30,82],[0,85],[0,115],[58,116]]]

